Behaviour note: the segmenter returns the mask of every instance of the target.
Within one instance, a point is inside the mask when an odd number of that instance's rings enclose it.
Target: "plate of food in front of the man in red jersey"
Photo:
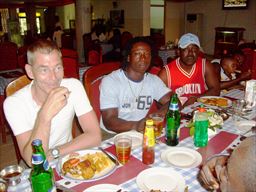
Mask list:
[[[230,99],[218,96],[204,96],[198,98],[197,101],[206,106],[230,107],[232,105],[232,101]]]

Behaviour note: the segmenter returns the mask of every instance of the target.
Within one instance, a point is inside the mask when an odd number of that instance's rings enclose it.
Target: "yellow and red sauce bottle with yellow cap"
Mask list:
[[[155,135],[153,124],[152,119],[146,121],[143,135],[142,162],[146,165],[152,164],[155,161]]]

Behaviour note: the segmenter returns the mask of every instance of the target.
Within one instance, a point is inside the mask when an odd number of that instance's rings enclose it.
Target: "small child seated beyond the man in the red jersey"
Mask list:
[[[241,85],[242,81],[248,80],[251,77],[251,72],[240,72],[237,71],[239,66],[238,61],[234,56],[224,56],[220,60],[220,64],[214,64],[220,79],[220,88],[221,90],[230,90],[230,89],[243,89],[244,85]],[[237,74],[238,72],[238,74]]]

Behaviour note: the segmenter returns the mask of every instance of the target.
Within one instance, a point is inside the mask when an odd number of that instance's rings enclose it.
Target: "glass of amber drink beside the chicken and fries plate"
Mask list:
[[[117,159],[125,164],[131,156],[132,138],[129,135],[117,135],[114,140]]]

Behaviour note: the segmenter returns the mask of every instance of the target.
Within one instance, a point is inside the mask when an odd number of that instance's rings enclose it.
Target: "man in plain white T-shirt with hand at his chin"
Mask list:
[[[61,51],[56,44],[36,41],[28,48],[27,60],[25,70],[32,82],[4,101],[5,116],[25,162],[31,165],[34,139],[42,140],[49,159],[99,145],[96,114],[80,81],[63,79]],[[84,133],[73,139],[75,114]]]

